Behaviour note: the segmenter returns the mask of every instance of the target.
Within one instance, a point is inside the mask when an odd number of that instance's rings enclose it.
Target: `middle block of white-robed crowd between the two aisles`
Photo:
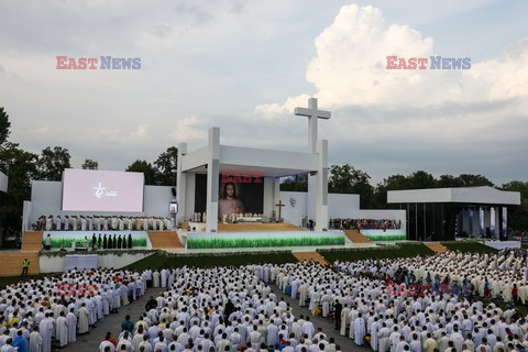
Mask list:
[[[316,330],[310,317],[295,317],[271,283],[272,265],[162,270],[148,272],[154,287],[166,290],[145,306],[145,314],[123,330],[118,351],[234,352],[341,351]],[[102,342],[100,351],[111,351]]]

